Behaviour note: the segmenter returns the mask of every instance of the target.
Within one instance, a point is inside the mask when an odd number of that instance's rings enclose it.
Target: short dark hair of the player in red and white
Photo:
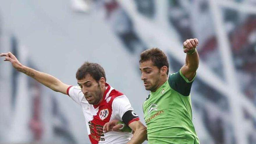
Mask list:
[[[104,77],[105,81],[107,80],[103,67],[97,63],[84,62],[77,70],[76,78],[77,80],[84,79],[87,74],[90,74],[97,82],[101,77]]]

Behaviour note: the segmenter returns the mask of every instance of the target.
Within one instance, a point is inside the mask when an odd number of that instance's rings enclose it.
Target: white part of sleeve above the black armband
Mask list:
[[[125,114],[125,112],[132,110],[131,103],[129,99],[125,96],[119,96],[116,97],[112,102],[112,111],[115,115],[115,118],[122,121],[122,116]]]

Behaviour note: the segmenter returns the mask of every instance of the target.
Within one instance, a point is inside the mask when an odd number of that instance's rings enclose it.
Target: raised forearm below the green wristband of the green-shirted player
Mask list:
[[[193,54],[186,54],[186,65],[189,72],[196,72],[199,65],[199,55],[197,51]]]

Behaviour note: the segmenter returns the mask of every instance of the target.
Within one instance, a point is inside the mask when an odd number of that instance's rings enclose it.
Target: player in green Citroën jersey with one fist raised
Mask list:
[[[199,65],[196,51],[198,40],[183,43],[186,63],[168,76],[169,63],[166,54],[158,48],[141,53],[141,80],[150,95],[143,103],[149,144],[199,144],[192,122],[190,90]],[[106,124],[111,131],[118,122]]]

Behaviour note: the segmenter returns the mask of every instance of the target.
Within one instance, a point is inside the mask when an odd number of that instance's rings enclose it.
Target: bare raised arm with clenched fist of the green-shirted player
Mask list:
[[[199,65],[199,55],[196,50],[196,46],[198,45],[198,39],[189,39],[183,43],[184,52],[186,55],[186,64],[182,66],[181,72],[182,74],[191,81],[196,74],[196,70]]]

